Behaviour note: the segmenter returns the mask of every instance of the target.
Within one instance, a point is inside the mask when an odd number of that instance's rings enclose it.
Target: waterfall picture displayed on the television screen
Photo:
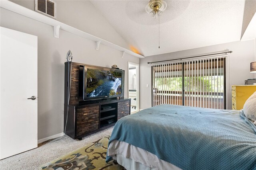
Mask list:
[[[87,68],[86,96],[122,96],[122,72]]]

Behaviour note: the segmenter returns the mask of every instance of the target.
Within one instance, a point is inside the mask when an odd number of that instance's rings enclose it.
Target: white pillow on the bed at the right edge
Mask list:
[[[250,96],[244,103],[244,115],[252,120],[256,121],[256,92]]]

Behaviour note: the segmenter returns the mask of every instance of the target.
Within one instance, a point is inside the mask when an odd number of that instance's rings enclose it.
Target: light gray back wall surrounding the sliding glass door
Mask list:
[[[148,62],[179,59],[232,50],[233,53],[231,53],[229,57],[229,77],[227,77],[227,81],[229,81],[227,87],[227,108],[231,109],[231,86],[244,84],[244,80],[254,78],[254,74],[250,73],[250,62],[254,61],[254,48],[254,40],[243,42],[236,41],[140,59],[140,109],[151,107],[151,66],[148,66]],[[149,85],[148,88],[146,84]]]

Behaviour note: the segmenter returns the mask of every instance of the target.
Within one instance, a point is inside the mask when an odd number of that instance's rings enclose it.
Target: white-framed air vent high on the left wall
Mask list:
[[[54,0],[35,0],[35,11],[56,19],[56,2]]]

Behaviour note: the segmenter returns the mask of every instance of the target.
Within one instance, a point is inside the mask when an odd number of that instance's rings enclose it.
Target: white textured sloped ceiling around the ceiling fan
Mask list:
[[[144,56],[239,41],[244,0],[166,0],[158,19],[150,18],[149,0],[91,0],[106,20]]]

